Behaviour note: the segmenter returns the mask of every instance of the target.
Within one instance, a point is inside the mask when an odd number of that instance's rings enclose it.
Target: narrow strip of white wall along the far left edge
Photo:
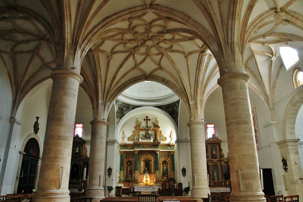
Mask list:
[[[5,156],[5,149],[7,147],[10,127],[9,118],[11,116],[12,109],[12,89],[7,76],[7,71],[2,63],[2,60],[0,60],[0,103],[0,192],[2,193],[2,182],[5,173],[3,158]]]

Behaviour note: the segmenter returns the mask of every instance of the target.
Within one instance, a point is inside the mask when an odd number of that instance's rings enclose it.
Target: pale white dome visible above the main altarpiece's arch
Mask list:
[[[177,101],[178,96],[168,87],[154,81],[143,81],[126,89],[119,97],[125,103],[155,106]]]

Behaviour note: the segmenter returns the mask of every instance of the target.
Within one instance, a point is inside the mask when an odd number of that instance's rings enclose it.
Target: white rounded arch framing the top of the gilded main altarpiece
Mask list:
[[[157,114],[157,115],[161,116],[162,118],[165,118],[174,127],[172,129],[173,129],[174,134],[176,134],[176,139],[178,139],[178,137],[179,137],[178,127],[177,127],[175,121],[171,118],[171,116],[168,113],[166,113],[165,111],[161,110],[161,109],[158,109],[158,108],[155,108],[155,107],[149,107],[149,106],[135,108],[132,111],[125,114],[125,116],[122,117],[119,124],[117,125],[115,138],[117,140],[120,140],[121,135],[122,135],[122,125],[125,124],[125,122],[127,122],[131,118],[134,118],[136,115],[139,115],[139,114],[142,114],[142,113]],[[159,124],[159,125],[161,127],[161,124]],[[134,120],[133,126],[135,126],[135,120]],[[160,130],[161,130],[161,128],[160,128]],[[124,132],[124,141],[127,140],[127,137],[129,135],[130,134],[127,134],[127,133]],[[167,140],[169,140],[169,139],[170,139],[170,137],[167,137]]]

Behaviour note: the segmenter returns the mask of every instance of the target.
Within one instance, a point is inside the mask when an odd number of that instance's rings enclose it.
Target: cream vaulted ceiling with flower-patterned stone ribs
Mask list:
[[[94,113],[144,80],[202,110],[225,68],[249,70],[249,85],[272,110],[285,74],[276,47],[302,50],[302,10],[300,0],[3,0],[0,65],[11,81],[12,115],[67,53],[82,61]],[[243,67],[228,66],[237,53]]]

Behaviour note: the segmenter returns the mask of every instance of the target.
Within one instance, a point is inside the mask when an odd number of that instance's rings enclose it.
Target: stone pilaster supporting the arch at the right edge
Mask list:
[[[283,170],[285,175],[286,186],[287,186],[287,195],[299,195],[299,198],[303,198],[303,186],[301,180],[299,179],[299,170],[298,167],[301,167],[300,156],[298,151],[297,142],[300,139],[286,139],[277,142],[280,149],[281,157],[279,159],[279,165],[282,168],[282,156],[287,161],[287,172]],[[298,163],[297,165],[295,164]],[[286,187],[284,187],[286,188]]]

